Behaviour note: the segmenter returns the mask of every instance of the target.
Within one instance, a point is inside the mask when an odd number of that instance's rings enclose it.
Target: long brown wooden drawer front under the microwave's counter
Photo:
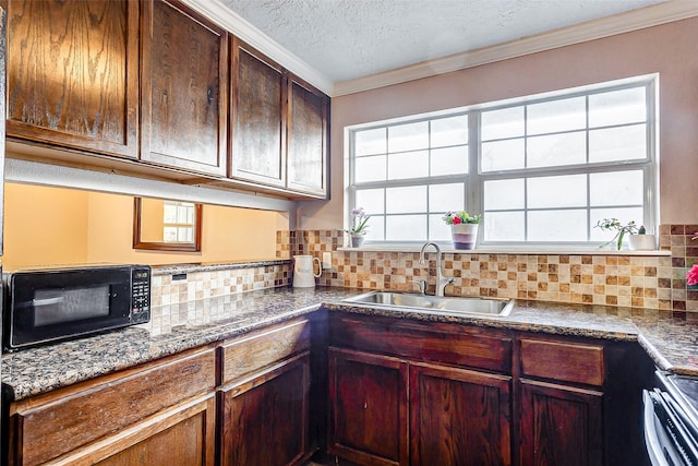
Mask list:
[[[35,465],[216,386],[214,349],[67,387],[11,408],[15,464]],[[21,444],[16,444],[21,443]]]

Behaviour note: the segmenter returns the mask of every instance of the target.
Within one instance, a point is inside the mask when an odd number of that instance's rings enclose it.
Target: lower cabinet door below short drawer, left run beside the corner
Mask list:
[[[309,451],[310,355],[303,353],[219,392],[220,464],[302,464]]]

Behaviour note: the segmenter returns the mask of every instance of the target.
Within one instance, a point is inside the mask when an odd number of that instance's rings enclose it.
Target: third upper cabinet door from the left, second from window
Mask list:
[[[232,39],[230,177],[286,187],[286,76],[272,60]]]

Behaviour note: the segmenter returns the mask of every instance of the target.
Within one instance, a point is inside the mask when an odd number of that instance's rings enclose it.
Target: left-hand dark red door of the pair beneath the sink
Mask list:
[[[407,465],[408,365],[329,348],[328,453],[365,465]]]

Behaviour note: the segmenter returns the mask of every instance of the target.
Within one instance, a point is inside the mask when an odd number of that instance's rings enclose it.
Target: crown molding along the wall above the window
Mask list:
[[[664,3],[588,21],[575,26],[524,37],[492,47],[423,61],[356,80],[338,82],[335,83],[330,95],[332,97],[338,97],[400,84],[694,16],[698,16],[698,2],[695,0],[670,0]]]

